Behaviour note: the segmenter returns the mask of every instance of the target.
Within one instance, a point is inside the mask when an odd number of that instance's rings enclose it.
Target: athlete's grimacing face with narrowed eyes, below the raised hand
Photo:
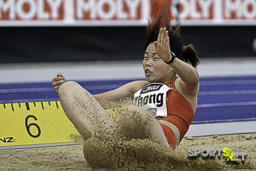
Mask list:
[[[146,80],[167,84],[174,77],[172,67],[168,66],[156,53],[155,45],[151,43],[146,48],[143,60]]]

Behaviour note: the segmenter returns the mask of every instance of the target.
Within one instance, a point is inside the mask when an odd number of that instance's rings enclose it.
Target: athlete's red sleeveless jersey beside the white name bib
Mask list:
[[[175,77],[167,84],[168,87],[173,89],[169,90],[166,95],[167,117],[158,116],[156,119],[174,124],[180,132],[181,141],[194,119],[194,111],[191,105],[176,90],[174,81],[177,78]]]

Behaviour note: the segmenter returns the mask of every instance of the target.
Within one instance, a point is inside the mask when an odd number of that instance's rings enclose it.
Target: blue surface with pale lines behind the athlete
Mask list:
[[[134,80],[78,82],[91,94]],[[0,103],[57,101],[52,83],[0,84]],[[193,123],[256,120],[256,76],[201,78]]]

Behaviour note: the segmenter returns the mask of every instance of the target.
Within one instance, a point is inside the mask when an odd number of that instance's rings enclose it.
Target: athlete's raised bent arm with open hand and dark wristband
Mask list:
[[[160,29],[158,39],[154,44],[158,56],[166,62],[170,61],[172,55],[169,47],[168,31],[165,28]],[[176,85],[180,86],[188,94],[196,96],[199,91],[199,75],[197,70],[178,58],[176,58],[174,63],[170,64],[170,67],[180,76],[180,79],[175,81]]]

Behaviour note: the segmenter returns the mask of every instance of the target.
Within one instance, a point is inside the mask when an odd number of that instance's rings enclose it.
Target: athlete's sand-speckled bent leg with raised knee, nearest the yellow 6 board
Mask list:
[[[113,132],[114,119],[78,83],[74,81],[63,83],[58,94],[64,112],[84,140],[94,134],[110,135]]]

